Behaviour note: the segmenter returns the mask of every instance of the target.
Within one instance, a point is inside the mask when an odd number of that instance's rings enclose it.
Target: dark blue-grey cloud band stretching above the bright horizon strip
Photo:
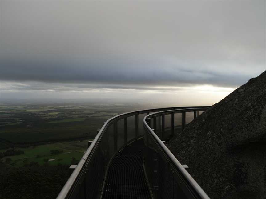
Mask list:
[[[8,63],[0,74],[6,81],[42,81],[54,83],[89,83],[106,84],[107,88],[140,88],[146,86],[182,86],[195,84],[212,84],[221,87],[236,87],[252,76],[241,71],[223,73],[192,68],[164,66],[158,63],[137,64],[132,67],[115,65],[108,62],[103,65],[82,65],[76,63],[35,62]],[[128,63],[130,65],[130,63]],[[116,85],[116,86],[115,86]],[[131,85],[131,86],[129,86]],[[132,85],[135,85],[132,86]]]

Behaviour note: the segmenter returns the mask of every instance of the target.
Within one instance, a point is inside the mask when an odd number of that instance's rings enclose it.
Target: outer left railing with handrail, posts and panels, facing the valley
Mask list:
[[[182,127],[184,128],[185,121],[186,121],[185,112],[190,112],[194,109],[197,111],[206,110],[206,108],[208,107],[169,107],[169,108],[148,109],[148,110],[128,112],[128,113],[124,113],[124,114],[120,114],[115,117],[112,117],[111,119],[108,119],[104,123],[103,127],[99,130],[98,134],[95,136],[94,141],[88,147],[86,153],[83,155],[83,157],[79,161],[77,167],[71,174],[70,178],[68,179],[68,181],[62,188],[57,198],[58,199],[100,198],[102,189],[104,186],[104,178],[105,178],[106,170],[108,168],[108,163],[110,162],[112,157],[115,156],[121,148],[126,146],[127,143],[133,140],[136,140],[139,137],[142,137],[143,130],[145,130],[145,132],[148,132],[148,133],[145,133],[145,136],[146,136],[145,142],[147,141],[149,142],[150,140],[148,138],[149,136],[154,136],[151,128],[149,126],[146,126],[147,124],[146,119],[150,117],[149,115],[150,113],[158,112],[158,111],[170,111],[171,114],[173,114],[172,112],[183,109],[184,114],[182,116],[182,121],[183,121]],[[186,111],[186,110],[190,110],[190,111]],[[146,115],[149,115],[149,116],[145,117]],[[151,115],[151,116],[153,117],[155,115]],[[145,117],[146,122],[144,122],[144,127],[143,127],[144,117]],[[174,122],[175,122],[174,117],[172,117],[171,118],[171,125],[172,125],[171,135],[168,136],[167,134],[168,131],[165,131],[165,129],[167,128],[164,128],[164,130],[162,130],[162,135],[164,137],[162,138],[164,139],[170,138],[172,135],[174,135],[175,127],[177,127],[177,129],[180,129],[179,128],[180,126],[175,125]],[[160,122],[160,123],[165,124],[165,122]],[[157,130],[159,129],[157,128],[157,124],[159,125],[159,122],[156,123],[156,131],[159,133],[159,130]],[[162,128],[160,127],[160,129]],[[157,138],[155,137],[155,140]],[[160,146],[161,143],[159,141],[158,143]],[[147,148],[150,149],[149,146],[151,145],[147,145],[147,146],[148,146]],[[164,151],[166,149],[162,148],[161,150]],[[173,164],[173,161],[175,162],[173,158],[174,157],[172,156],[168,157],[168,160],[171,162],[171,165]],[[178,169],[178,167],[176,167],[176,165],[174,164],[173,164],[173,168],[175,170]],[[181,171],[185,172],[182,169]],[[147,175],[148,178],[149,176],[150,174]],[[187,174],[185,175],[185,177],[187,177]],[[193,179],[189,178],[187,180],[192,181]],[[151,183],[151,179],[148,179],[148,181]],[[191,184],[192,188],[193,186],[195,186],[195,184],[193,183]],[[151,192],[155,194],[154,191],[151,190]]]

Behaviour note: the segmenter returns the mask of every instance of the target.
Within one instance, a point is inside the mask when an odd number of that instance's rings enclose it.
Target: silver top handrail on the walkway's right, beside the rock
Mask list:
[[[148,133],[152,136],[153,140],[156,142],[157,146],[163,153],[163,155],[167,158],[169,162],[171,162],[171,166],[175,170],[176,173],[178,173],[181,178],[183,178],[183,181],[186,182],[186,187],[189,189],[190,193],[195,198],[201,198],[201,199],[210,199],[208,195],[204,192],[204,190],[198,185],[198,183],[191,177],[191,175],[187,172],[187,170],[182,166],[182,164],[175,158],[175,156],[171,153],[171,151],[165,146],[165,144],[162,142],[162,140],[155,134],[154,129],[152,129],[149,124],[147,123],[147,119],[153,117],[153,116],[162,116],[164,114],[171,114],[171,113],[184,113],[184,112],[191,112],[191,111],[205,111],[209,107],[192,107],[192,108],[180,108],[180,109],[174,109],[174,110],[167,110],[167,111],[160,111],[155,112],[152,114],[149,114],[144,117],[143,119],[143,125],[144,128],[148,130]],[[195,114],[194,114],[195,117]],[[144,137],[145,137],[146,131],[144,131]]]

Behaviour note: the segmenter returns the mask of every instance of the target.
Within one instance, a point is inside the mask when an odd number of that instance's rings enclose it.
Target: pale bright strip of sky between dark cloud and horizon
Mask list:
[[[215,87],[212,85],[198,85],[190,87],[149,87],[142,89],[114,89],[114,88],[79,88],[79,85],[73,87],[72,84],[58,86],[46,85],[46,90],[42,89],[42,84],[38,83],[1,83],[0,93],[6,93],[7,98],[21,96],[22,99],[92,99],[101,98],[113,99],[119,103],[151,103],[161,106],[192,106],[192,105],[212,105],[226,97],[235,88]],[[35,85],[33,88],[32,85]],[[21,93],[21,86],[23,93]],[[39,89],[38,89],[39,88]],[[117,97],[119,96],[119,98]]]

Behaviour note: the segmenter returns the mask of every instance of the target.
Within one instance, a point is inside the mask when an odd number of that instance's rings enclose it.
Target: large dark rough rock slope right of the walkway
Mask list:
[[[208,96],[206,96],[208,97]],[[167,144],[210,198],[266,198],[266,71]]]

